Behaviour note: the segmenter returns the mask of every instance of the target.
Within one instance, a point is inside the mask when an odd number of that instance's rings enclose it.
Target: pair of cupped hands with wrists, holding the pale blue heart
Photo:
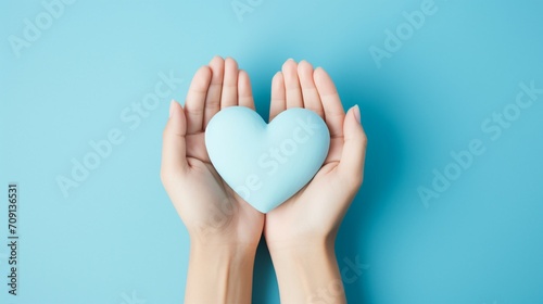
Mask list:
[[[272,81],[269,121],[290,107],[312,110],[330,130],[330,149],[312,181],[264,215],[220,178],[205,149],[209,122],[232,105],[254,110],[249,76],[235,60],[215,56],[195,73],[185,109],[172,102],[164,130],[161,177],[191,239],[186,303],[250,303],[254,255],[263,233],[281,302],[317,301],[319,295],[313,293],[340,279],[333,243],[363,180],[366,136],[358,106],[345,114],[323,68],[305,61],[283,64]],[[300,274],[304,267],[308,273]],[[223,288],[213,294],[210,283]],[[330,299],[344,301],[338,296]]]

